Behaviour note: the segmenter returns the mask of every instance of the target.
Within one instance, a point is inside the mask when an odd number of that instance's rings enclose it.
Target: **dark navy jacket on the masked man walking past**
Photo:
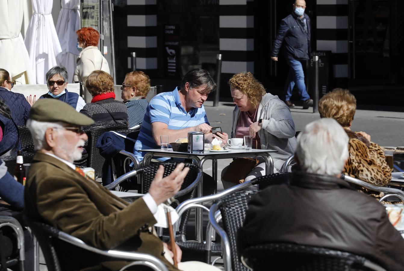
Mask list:
[[[282,42],[284,42],[284,51],[286,58],[309,59],[310,55],[310,18],[304,14],[307,23],[307,32],[304,23],[293,12],[284,18],[280,23],[278,36],[272,46],[272,57],[278,57]]]

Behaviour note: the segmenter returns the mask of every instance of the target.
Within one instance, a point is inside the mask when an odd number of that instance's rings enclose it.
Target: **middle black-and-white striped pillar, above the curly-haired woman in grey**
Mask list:
[[[219,50],[222,85],[238,72],[254,73],[253,0],[220,0]]]

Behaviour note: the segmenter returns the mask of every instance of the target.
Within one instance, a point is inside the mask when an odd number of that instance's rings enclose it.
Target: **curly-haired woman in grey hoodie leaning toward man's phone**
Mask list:
[[[284,161],[295,152],[296,130],[289,107],[278,96],[266,93],[264,86],[250,72],[235,74],[228,82],[236,107],[233,111],[231,138],[252,136],[253,149],[273,149],[274,172],[279,172]],[[225,169],[222,176],[226,176]],[[244,181],[265,175],[265,163],[247,174]],[[244,177],[244,176],[243,176]],[[226,180],[227,179],[227,180]],[[226,189],[234,183],[225,178]]]

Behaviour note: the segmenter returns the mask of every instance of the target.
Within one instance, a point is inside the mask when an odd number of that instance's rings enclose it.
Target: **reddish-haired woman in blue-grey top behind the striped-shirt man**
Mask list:
[[[142,124],[149,103],[146,100],[150,90],[150,78],[143,71],[131,71],[122,83],[121,98],[128,108],[129,127]]]

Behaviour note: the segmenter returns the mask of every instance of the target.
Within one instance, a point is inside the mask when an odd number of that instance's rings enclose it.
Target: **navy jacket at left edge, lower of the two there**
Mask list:
[[[18,137],[18,129],[14,124],[13,120],[4,117],[0,114],[0,122],[4,124],[3,139],[0,142],[0,157],[7,151],[13,149],[13,153],[8,155],[13,155],[17,150],[21,149],[21,142]]]

